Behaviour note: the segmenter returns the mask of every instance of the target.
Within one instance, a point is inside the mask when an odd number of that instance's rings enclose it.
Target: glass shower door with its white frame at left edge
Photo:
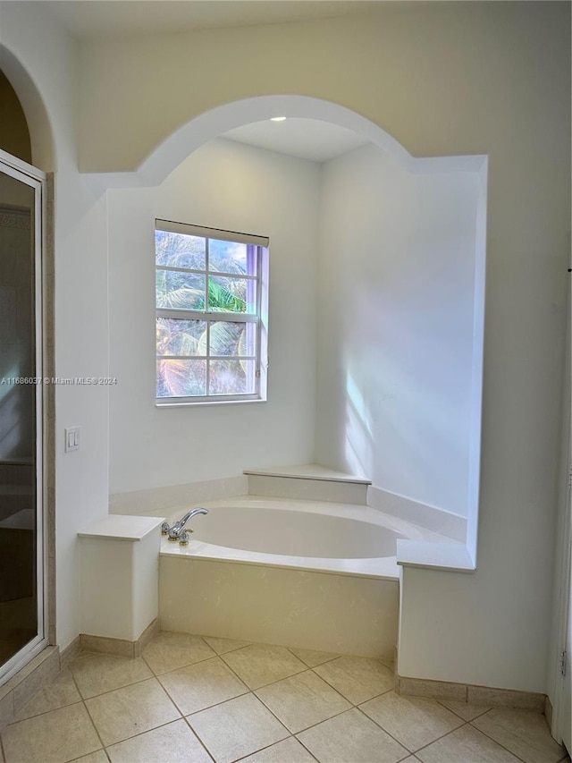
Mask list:
[[[46,176],[0,151],[0,684],[46,644],[42,242]]]

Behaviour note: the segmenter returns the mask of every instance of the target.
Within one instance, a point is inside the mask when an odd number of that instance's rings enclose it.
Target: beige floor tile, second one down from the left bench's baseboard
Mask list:
[[[86,705],[105,747],[181,717],[156,678],[99,694]]]

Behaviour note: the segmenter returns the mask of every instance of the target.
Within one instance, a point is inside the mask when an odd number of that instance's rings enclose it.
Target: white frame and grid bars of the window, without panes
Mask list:
[[[225,403],[260,403],[265,402],[267,395],[267,371],[268,371],[268,244],[266,236],[259,236],[250,233],[235,233],[218,228],[209,228],[203,225],[192,225],[190,223],[178,223],[171,220],[157,218],[155,221],[155,230],[166,233],[183,233],[190,236],[198,236],[206,240],[206,263],[205,269],[194,269],[189,267],[172,267],[156,264],[157,270],[171,270],[174,272],[189,273],[195,275],[204,275],[206,281],[206,309],[173,309],[156,307],[156,318],[173,318],[183,320],[201,320],[206,322],[206,330],[210,336],[210,326],[217,321],[231,321],[232,323],[252,323],[256,326],[256,350],[254,355],[232,355],[232,356],[213,356],[210,354],[210,343],[208,343],[209,354],[197,356],[182,355],[159,355],[158,360],[205,360],[206,361],[206,394],[189,395],[184,397],[156,397],[158,407],[169,407],[176,405],[220,405]],[[238,276],[236,273],[223,273],[209,270],[209,239],[215,241],[227,241],[233,243],[246,243],[257,248],[257,275],[256,276]],[[220,310],[210,311],[208,309],[208,277],[230,276],[245,277],[256,282],[256,310],[250,313],[223,312]],[[254,360],[255,361],[255,391],[244,394],[209,394],[209,360],[224,360],[231,357],[234,360]],[[158,371],[156,364],[156,386],[158,381]]]

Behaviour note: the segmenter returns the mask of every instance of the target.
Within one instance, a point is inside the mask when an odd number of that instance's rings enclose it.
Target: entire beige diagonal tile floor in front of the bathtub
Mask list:
[[[559,763],[544,717],[395,694],[391,666],[161,633],[83,653],[1,734],[0,763]]]

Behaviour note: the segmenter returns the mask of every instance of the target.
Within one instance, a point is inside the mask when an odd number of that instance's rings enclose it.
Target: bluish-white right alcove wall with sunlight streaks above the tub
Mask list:
[[[317,462],[465,517],[477,189],[373,146],[328,162],[318,271]]]

